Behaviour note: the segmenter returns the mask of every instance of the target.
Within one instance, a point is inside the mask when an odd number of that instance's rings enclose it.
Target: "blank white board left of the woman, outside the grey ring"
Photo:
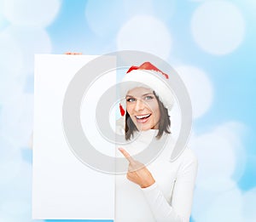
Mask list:
[[[80,162],[67,145],[62,128],[67,86],[76,72],[95,58],[66,54],[35,56],[33,219],[114,218],[114,176]],[[112,61],[115,65],[114,58]],[[115,81],[115,75],[104,79],[106,85]],[[108,149],[110,156],[114,156],[112,147]]]

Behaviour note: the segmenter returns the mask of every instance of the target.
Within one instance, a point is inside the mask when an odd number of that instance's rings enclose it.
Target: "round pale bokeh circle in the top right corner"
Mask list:
[[[195,42],[207,53],[230,54],[243,40],[245,22],[232,3],[209,1],[195,10],[191,30]]]

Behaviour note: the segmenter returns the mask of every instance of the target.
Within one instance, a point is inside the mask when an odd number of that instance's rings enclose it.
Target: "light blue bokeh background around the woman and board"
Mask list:
[[[121,49],[160,56],[192,92],[191,221],[256,221],[255,10],[253,0],[0,0],[0,221],[32,221],[34,54]]]

